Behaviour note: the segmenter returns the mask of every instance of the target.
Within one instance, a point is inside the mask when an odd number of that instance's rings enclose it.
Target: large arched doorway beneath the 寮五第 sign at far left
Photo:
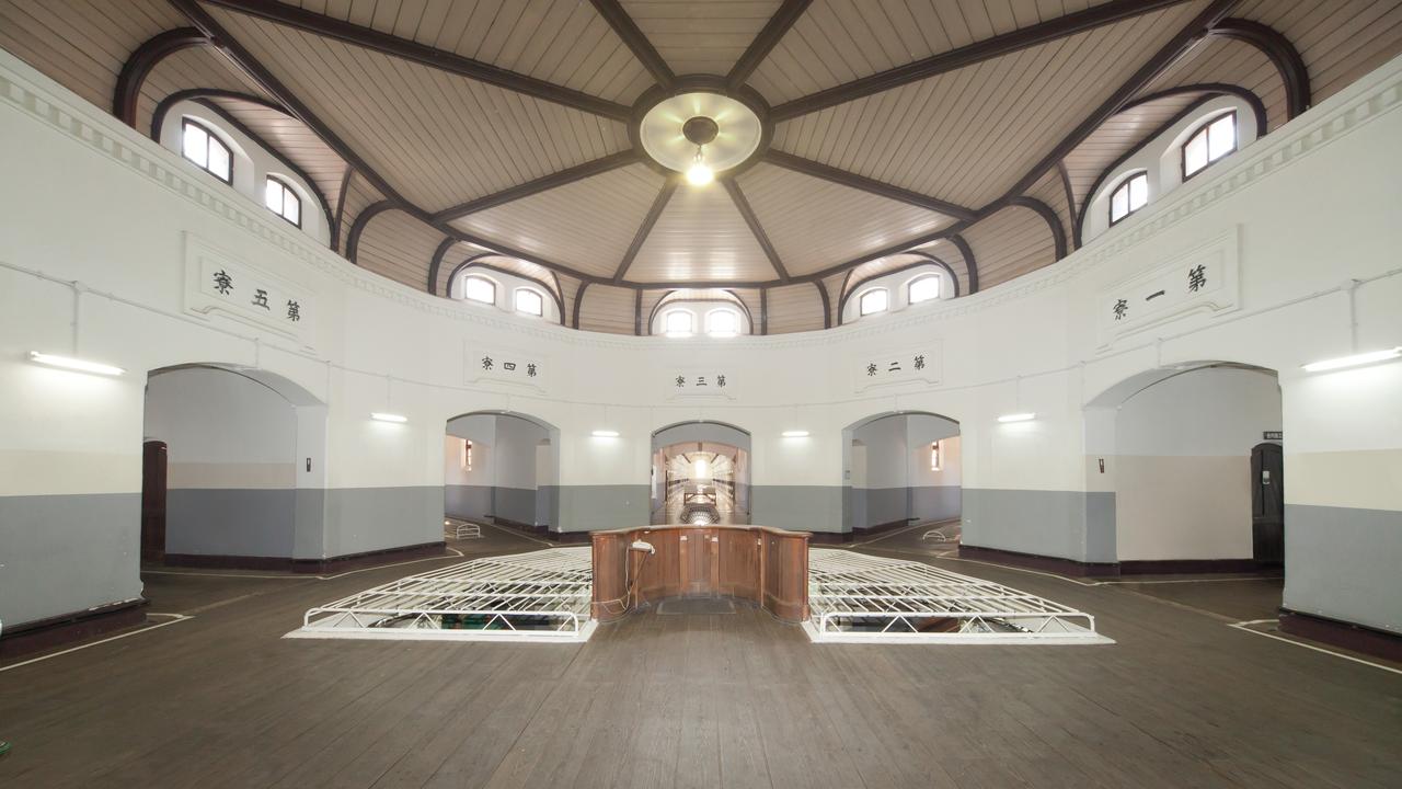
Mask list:
[[[324,556],[327,407],[310,392],[255,368],[161,368],[143,432],[143,560],[290,569]]]

